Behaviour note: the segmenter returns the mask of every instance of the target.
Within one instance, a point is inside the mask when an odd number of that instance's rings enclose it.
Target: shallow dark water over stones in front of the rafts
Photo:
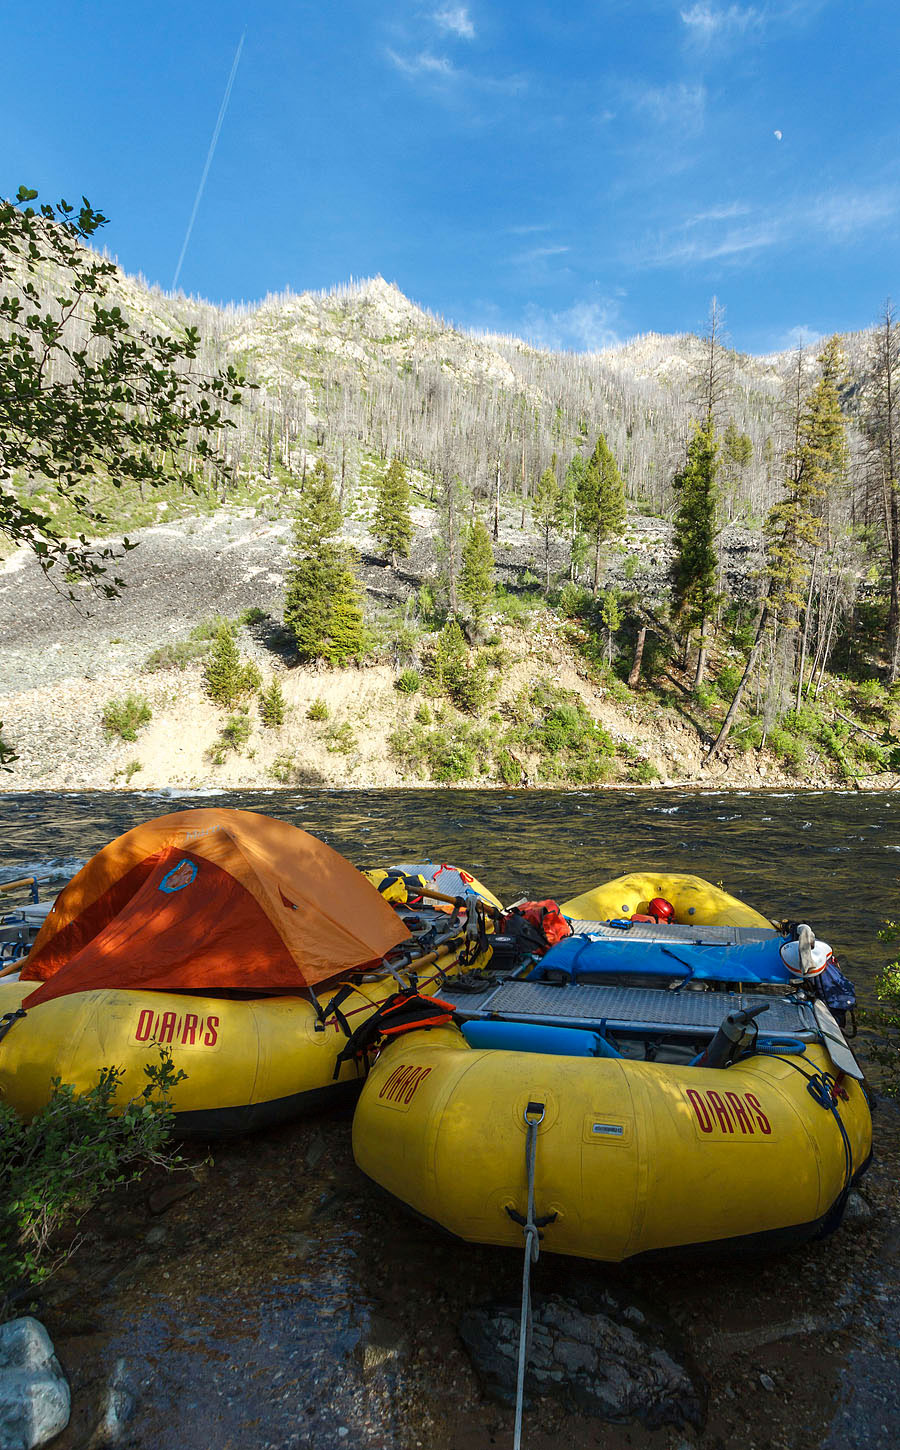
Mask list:
[[[196,1157],[96,1212],[32,1305],[72,1389],[58,1450],[510,1443],[497,1360],[519,1254],[454,1243],[378,1195],[348,1114]],[[529,1450],[893,1450],[899,1167],[888,1106],[825,1243],[632,1266],[542,1254]]]

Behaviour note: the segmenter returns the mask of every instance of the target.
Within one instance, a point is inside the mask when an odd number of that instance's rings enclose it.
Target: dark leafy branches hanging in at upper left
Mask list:
[[[14,202],[0,200],[0,286],[9,287],[0,296],[0,531],[42,568],[61,563],[70,581],[113,596],[122,580],[104,576],[116,550],[65,538],[55,506],[74,506],[99,532],[107,522],[94,502],[99,483],[193,487],[188,441],[196,458],[214,461],[210,435],[230,426],[223,407],[241,403],[243,378],[233,367],[191,373],[196,328],[177,338],[133,328],[107,304],[116,264],[88,249],[106,216],[84,197],[78,210],[67,202],[36,210],[36,199],[19,187]],[[48,271],[51,299],[36,284]],[[36,487],[49,490],[46,506]],[[122,548],[133,545],[126,538]]]

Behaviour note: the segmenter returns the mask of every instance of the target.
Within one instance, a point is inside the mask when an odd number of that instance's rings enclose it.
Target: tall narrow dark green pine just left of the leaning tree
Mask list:
[[[719,444],[712,416],[696,423],[687,445],[687,460],[672,480],[678,499],[675,512],[675,563],[672,568],[672,612],[684,628],[686,641],[700,629],[700,652],[694,689],[703,682],[709,626],[717,602],[716,581],[716,470]]]

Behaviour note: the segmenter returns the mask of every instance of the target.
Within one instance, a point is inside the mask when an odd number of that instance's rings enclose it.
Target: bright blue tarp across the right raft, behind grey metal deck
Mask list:
[[[641,973],[649,977],[691,977],[697,982],[796,982],[784,966],[778,948],[784,937],[748,941],[741,945],[696,945],[674,941],[590,941],[567,937],[541,958],[530,980],[545,972],[565,972],[577,982],[584,976]]]

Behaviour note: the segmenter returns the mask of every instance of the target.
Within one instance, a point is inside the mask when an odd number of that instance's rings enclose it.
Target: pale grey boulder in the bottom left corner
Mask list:
[[[26,1315],[0,1325],[0,1446],[33,1450],[68,1424],[71,1396],[43,1325]]]

